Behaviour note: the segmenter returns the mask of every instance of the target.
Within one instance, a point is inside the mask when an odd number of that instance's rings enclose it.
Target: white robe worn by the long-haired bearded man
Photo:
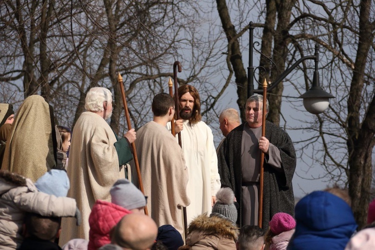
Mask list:
[[[167,127],[170,130],[170,122]],[[178,139],[177,134],[175,137]],[[186,207],[189,224],[194,217],[204,212],[211,213],[211,196],[220,189],[220,176],[212,130],[204,121],[190,125],[188,120],[183,120],[181,140],[189,173],[186,188],[190,199],[190,205]]]

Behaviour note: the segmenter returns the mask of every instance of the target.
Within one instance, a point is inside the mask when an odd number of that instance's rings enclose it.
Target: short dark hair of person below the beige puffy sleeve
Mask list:
[[[54,240],[61,225],[61,217],[42,216],[27,212],[24,219],[26,232],[29,237]]]

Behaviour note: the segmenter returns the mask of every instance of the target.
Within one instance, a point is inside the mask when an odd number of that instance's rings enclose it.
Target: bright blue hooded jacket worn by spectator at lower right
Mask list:
[[[314,191],[295,206],[295,232],[287,249],[344,249],[357,228],[350,206],[326,191]]]

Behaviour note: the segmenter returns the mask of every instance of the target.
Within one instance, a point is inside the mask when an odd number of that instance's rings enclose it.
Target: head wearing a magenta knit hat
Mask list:
[[[295,228],[295,220],[293,216],[288,213],[277,212],[272,216],[271,220],[268,222],[268,225],[269,228],[264,235],[266,249],[269,247],[273,236]]]

